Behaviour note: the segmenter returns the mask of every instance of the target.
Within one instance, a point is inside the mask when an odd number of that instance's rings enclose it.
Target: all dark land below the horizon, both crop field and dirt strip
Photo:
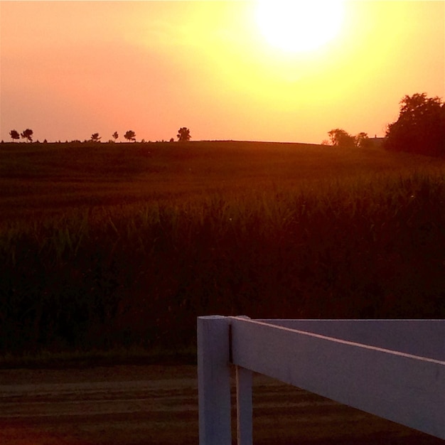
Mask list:
[[[443,318],[444,176],[380,149],[1,144],[0,444],[197,444],[193,365],[44,369],[163,363],[196,316]],[[443,441],[257,376],[254,443]]]

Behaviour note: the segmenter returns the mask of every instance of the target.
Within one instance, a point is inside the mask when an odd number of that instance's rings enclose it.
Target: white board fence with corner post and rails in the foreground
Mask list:
[[[198,317],[200,445],[252,444],[252,371],[445,439],[444,320]]]

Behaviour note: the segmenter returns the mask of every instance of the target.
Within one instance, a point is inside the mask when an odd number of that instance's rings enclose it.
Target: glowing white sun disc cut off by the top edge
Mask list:
[[[340,0],[257,0],[257,25],[267,43],[289,53],[316,50],[337,36]]]

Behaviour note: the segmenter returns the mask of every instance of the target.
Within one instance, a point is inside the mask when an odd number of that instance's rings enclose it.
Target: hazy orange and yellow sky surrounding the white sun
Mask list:
[[[264,40],[254,1],[1,1],[0,138],[382,136],[404,95],[445,96],[444,1],[345,1],[309,53]]]

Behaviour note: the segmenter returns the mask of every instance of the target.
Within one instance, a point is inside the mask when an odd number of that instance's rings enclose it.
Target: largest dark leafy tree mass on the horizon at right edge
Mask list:
[[[427,93],[404,96],[400,114],[389,124],[385,134],[385,148],[411,153],[445,154],[445,104],[439,97]]]

